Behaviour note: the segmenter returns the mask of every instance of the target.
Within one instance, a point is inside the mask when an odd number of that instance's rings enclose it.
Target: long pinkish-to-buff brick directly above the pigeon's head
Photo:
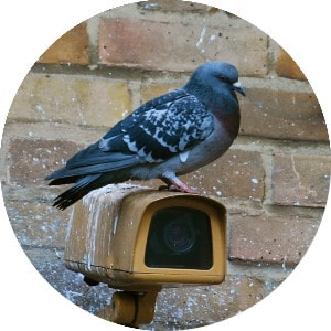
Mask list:
[[[245,56],[242,56],[245,54]],[[242,75],[267,72],[267,38],[257,29],[102,19],[99,62],[107,65],[149,70],[193,71],[206,60],[238,66]]]

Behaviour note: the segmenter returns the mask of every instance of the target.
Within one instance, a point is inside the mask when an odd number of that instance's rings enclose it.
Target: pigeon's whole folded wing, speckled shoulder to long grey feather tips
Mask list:
[[[199,143],[212,130],[213,117],[205,106],[195,96],[177,89],[140,106],[46,179],[159,163]]]

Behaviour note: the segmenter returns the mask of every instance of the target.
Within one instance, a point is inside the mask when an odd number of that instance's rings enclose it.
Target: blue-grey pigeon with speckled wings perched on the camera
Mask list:
[[[184,86],[141,105],[47,175],[49,185],[74,184],[53,205],[65,210],[93,190],[127,180],[160,179],[170,190],[199,194],[178,175],[231,147],[241,122],[236,93],[245,96],[234,65],[202,64]]]

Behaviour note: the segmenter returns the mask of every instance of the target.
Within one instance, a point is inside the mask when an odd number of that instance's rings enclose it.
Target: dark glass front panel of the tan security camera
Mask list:
[[[210,269],[213,266],[210,216],[183,206],[157,211],[150,223],[145,264],[151,268]]]

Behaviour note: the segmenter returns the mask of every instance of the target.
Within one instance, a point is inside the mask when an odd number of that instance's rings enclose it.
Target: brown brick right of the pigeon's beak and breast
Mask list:
[[[241,97],[241,134],[275,139],[329,141],[313,93],[247,88]]]

